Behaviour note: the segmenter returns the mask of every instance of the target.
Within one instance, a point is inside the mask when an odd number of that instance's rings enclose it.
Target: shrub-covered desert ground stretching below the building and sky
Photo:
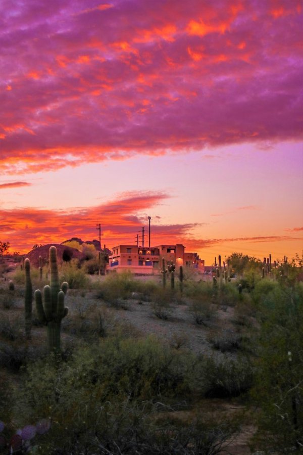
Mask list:
[[[0,453],[301,452],[302,260],[163,281],[49,251],[1,257]]]

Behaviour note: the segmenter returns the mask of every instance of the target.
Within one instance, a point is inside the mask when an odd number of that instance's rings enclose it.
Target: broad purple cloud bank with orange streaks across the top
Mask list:
[[[302,139],[296,0],[3,0],[0,12],[3,172]]]

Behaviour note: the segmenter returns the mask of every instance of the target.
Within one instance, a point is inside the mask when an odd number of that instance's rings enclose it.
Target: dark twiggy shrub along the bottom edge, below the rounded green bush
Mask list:
[[[111,400],[100,406],[89,397],[85,401],[72,421],[70,416],[63,421],[63,412],[56,414],[47,437],[39,441],[39,453],[217,455],[239,430],[235,419],[214,421],[202,413],[184,419],[161,403]]]

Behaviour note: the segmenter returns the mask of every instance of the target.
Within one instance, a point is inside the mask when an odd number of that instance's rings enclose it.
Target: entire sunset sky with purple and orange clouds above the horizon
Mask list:
[[[2,0],[0,241],[150,216],[207,265],[301,255],[302,30],[300,0]]]

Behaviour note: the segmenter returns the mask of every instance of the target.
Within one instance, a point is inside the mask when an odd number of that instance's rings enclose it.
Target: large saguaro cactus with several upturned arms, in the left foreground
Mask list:
[[[47,327],[48,349],[50,352],[60,351],[61,321],[68,313],[68,307],[64,306],[64,297],[68,290],[68,283],[59,285],[57,265],[57,248],[49,248],[49,266],[51,268],[51,285],[44,286],[44,306],[42,294],[39,289],[35,291],[35,302],[38,319]]]

